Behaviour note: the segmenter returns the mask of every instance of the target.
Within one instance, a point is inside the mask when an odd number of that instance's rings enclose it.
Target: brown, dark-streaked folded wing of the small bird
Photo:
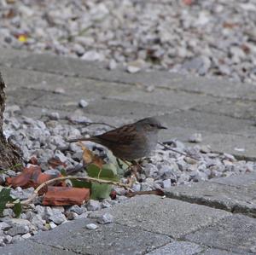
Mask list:
[[[136,136],[137,130],[134,125],[124,125],[96,137],[109,143],[129,145],[137,138]]]

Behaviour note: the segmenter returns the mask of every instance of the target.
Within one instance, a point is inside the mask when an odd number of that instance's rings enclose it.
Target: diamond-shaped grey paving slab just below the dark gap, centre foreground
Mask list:
[[[192,205],[179,200],[161,199],[154,195],[131,198],[125,204],[92,212],[90,217],[98,217],[110,212],[116,223],[146,231],[180,238],[230,215],[229,212],[207,206]]]

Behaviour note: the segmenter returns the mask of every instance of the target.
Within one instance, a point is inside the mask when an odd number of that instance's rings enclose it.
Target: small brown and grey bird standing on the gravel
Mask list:
[[[166,127],[160,125],[157,119],[146,118],[110,130],[102,135],[90,138],[81,137],[67,142],[96,142],[109,148],[117,158],[131,161],[146,157],[154,150],[160,129],[166,129]]]

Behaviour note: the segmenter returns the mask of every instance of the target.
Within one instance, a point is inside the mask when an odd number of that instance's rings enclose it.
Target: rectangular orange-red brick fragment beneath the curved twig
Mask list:
[[[82,205],[90,200],[89,188],[48,187],[44,195],[44,206],[72,206]]]

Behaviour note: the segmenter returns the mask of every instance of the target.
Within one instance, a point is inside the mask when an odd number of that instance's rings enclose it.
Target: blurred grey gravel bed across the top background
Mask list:
[[[254,84],[255,11],[255,0],[0,0],[0,47]]]

